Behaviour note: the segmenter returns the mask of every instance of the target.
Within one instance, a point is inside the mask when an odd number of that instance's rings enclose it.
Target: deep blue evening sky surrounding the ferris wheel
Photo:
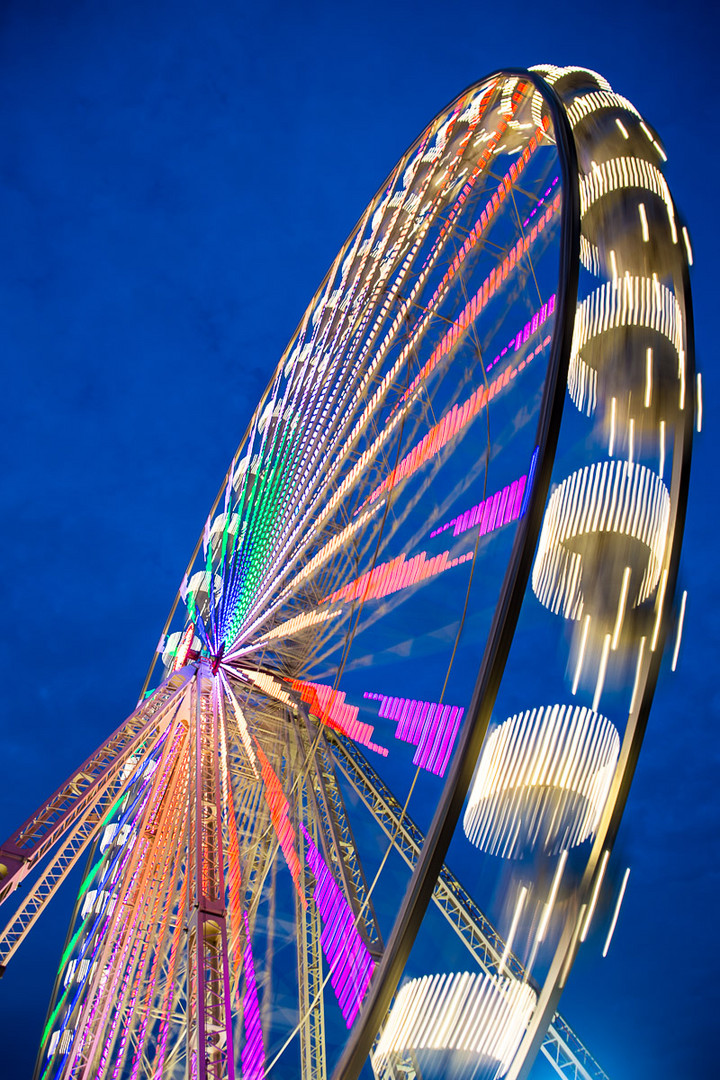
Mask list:
[[[405,148],[495,68],[596,68],[668,152],[705,430],[680,662],[619,839],[628,892],[610,956],[581,955],[561,1008],[611,1080],[716,1074],[717,17],[697,0],[5,0],[3,836],[132,711],[252,409]],[[9,1080],[31,1075],[71,905],[58,897],[0,982]]]

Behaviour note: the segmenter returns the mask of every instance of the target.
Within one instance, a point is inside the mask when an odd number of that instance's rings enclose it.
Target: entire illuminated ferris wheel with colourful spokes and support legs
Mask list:
[[[137,707],[0,850],[3,967],[86,862],[38,1080],[606,1076],[558,1003],[619,918],[702,410],[665,160],[540,66],[390,173]]]

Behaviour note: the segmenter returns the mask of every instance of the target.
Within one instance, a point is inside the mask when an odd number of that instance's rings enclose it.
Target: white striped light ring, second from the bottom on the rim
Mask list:
[[[518,713],[486,740],[465,835],[504,859],[582,843],[595,833],[619,753],[615,728],[592,708],[546,705]]]

